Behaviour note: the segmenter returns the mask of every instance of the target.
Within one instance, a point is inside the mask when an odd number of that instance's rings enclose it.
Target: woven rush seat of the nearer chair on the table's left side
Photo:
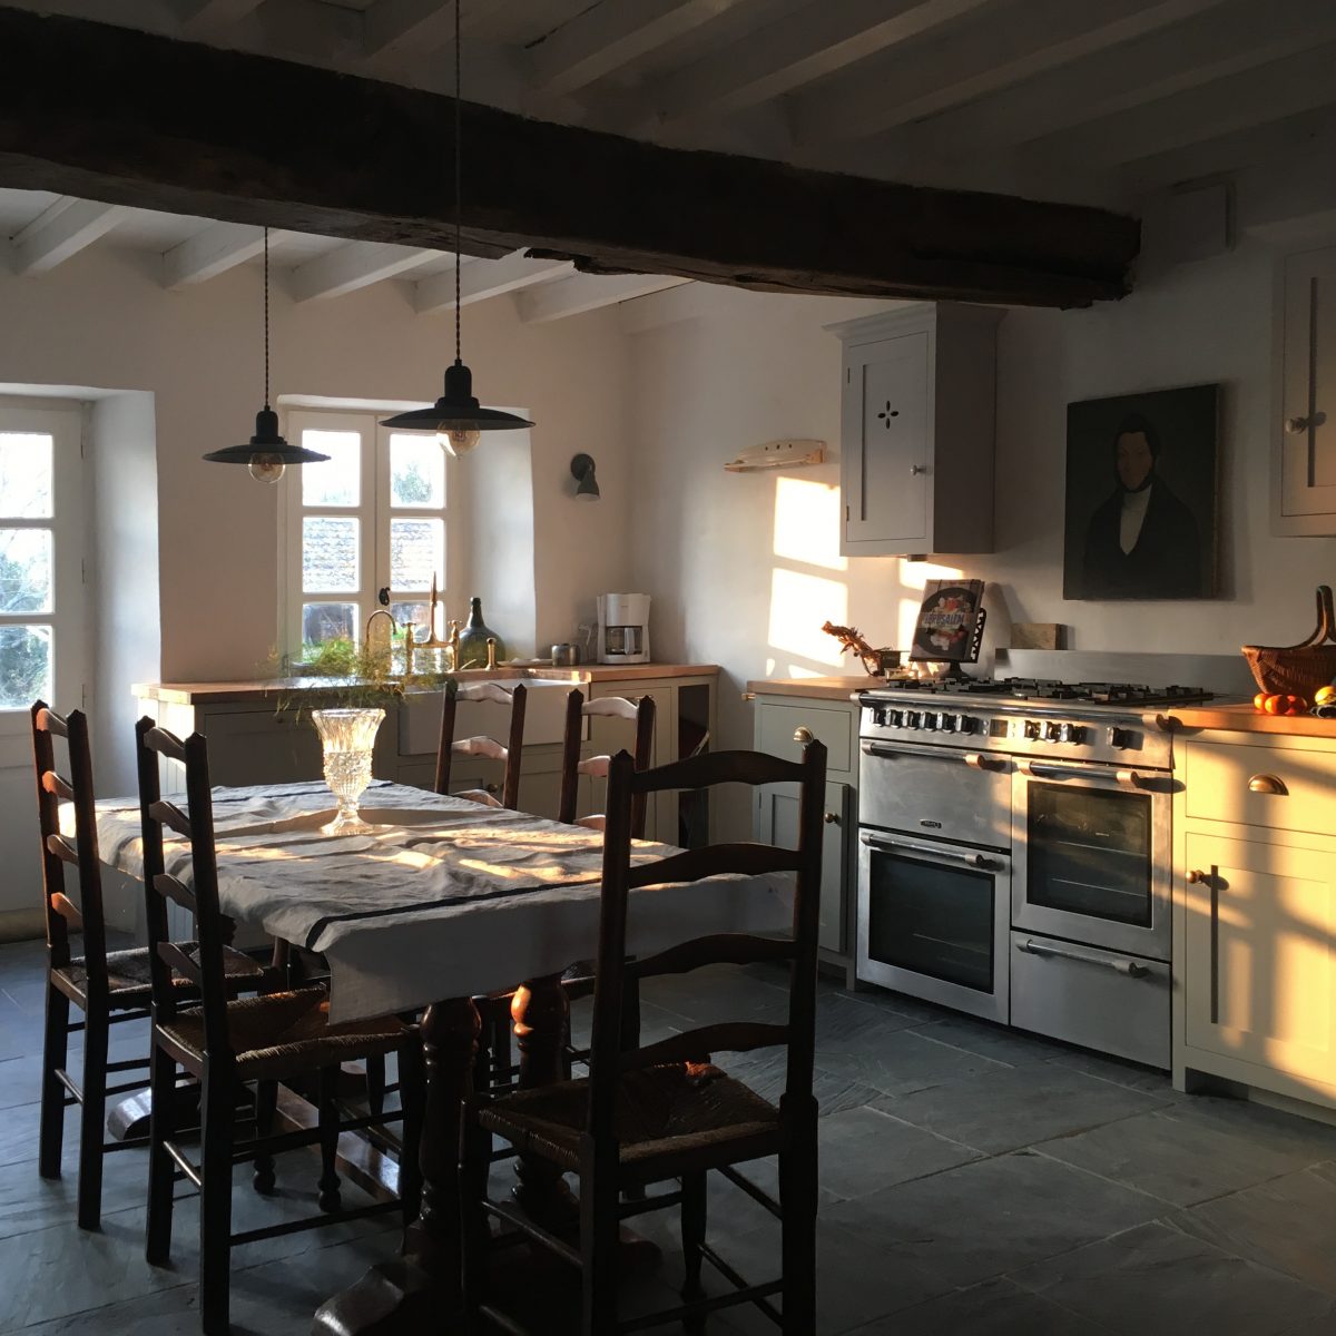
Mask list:
[[[203,1011],[178,1011],[159,1029],[191,1059],[203,1062]],[[393,1053],[405,1042],[407,1027],[394,1017],[330,1025],[325,991],[301,989],[228,1002],[227,1033],[236,1054],[238,1079],[254,1081],[315,1071],[345,1058]]]

